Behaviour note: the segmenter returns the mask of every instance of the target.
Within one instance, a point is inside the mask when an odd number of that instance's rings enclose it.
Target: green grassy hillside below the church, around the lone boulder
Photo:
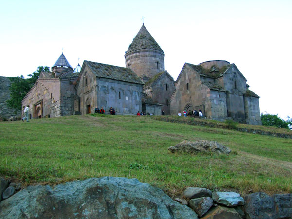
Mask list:
[[[292,139],[110,115],[4,122],[0,132],[0,174],[26,185],[114,176],[137,178],[171,196],[190,186],[292,192]],[[183,140],[218,141],[232,152],[168,152]]]

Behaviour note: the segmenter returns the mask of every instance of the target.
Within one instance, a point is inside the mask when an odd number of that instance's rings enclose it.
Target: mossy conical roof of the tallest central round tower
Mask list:
[[[141,49],[159,50],[164,54],[163,50],[160,48],[160,46],[155,41],[155,39],[151,36],[151,34],[147,31],[144,24],[142,25],[136,37],[133,39],[133,42],[129,45],[126,55],[130,52],[141,50]]]

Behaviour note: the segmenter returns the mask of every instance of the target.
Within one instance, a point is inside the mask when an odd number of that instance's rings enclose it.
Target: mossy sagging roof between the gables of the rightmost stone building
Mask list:
[[[229,69],[229,67],[232,65],[225,65],[222,68],[217,68],[215,66],[212,66],[211,69],[204,69],[201,65],[193,65],[190,63],[185,63],[188,66],[190,66],[193,70],[198,72],[201,76],[205,77],[212,77],[212,78],[218,78],[224,75],[224,73]]]

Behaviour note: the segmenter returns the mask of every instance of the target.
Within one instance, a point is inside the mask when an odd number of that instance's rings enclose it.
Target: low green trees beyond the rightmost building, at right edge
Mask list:
[[[284,119],[281,119],[278,117],[278,115],[271,115],[271,114],[261,114],[260,115],[261,122],[264,126],[275,126],[279,128],[287,128],[291,127],[292,125],[292,119],[288,117],[288,120],[285,121]],[[291,129],[291,128],[290,128]]]

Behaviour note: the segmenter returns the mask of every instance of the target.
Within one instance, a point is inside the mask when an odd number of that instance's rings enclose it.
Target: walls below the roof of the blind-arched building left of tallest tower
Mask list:
[[[142,111],[142,84],[96,78],[87,66],[81,74],[77,95],[82,115],[88,113],[88,105],[91,112],[94,112],[95,107],[103,107],[106,113],[113,107],[117,114],[136,114]]]

